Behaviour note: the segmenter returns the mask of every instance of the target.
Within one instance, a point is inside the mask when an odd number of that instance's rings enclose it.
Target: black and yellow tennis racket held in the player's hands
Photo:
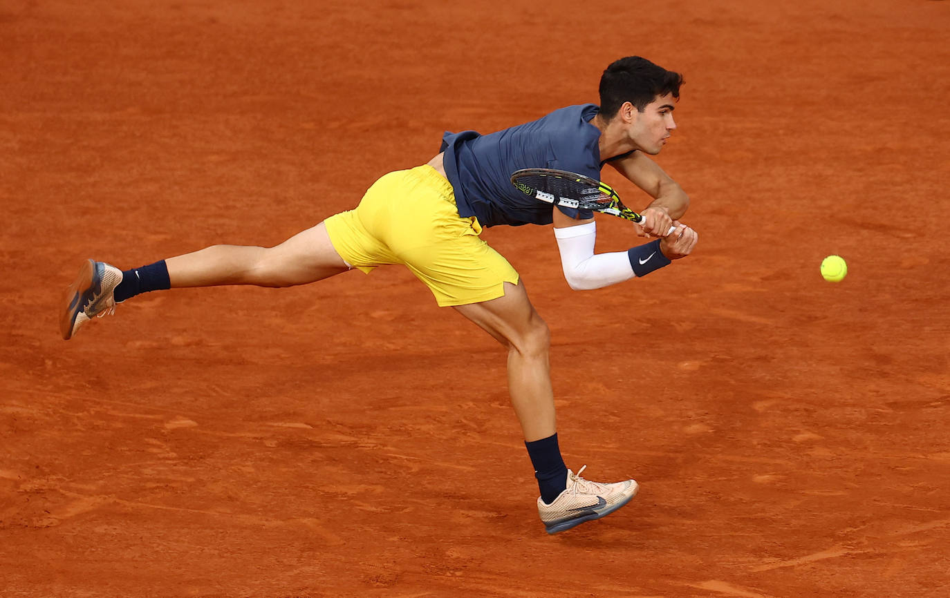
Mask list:
[[[524,195],[556,206],[616,215],[637,224],[643,222],[643,216],[623,205],[610,185],[577,173],[553,168],[523,168],[511,175],[511,182]],[[674,231],[675,227],[667,234]]]

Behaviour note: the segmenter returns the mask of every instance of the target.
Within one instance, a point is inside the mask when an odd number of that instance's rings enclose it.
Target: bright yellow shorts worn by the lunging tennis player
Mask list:
[[[405,264],[442,306],[497,299],[518,272],[479,237],[482,226],[463,218],[445,177],[431,166],[377,180],[355,210],[325,221],[333,248],[352,268]]]

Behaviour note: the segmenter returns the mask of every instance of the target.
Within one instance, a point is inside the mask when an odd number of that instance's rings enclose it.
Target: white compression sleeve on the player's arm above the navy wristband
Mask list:
[[[600,289],[634,277],[627,252],[594,253],[594,222],[555,229],[564,278],[573,290]]]

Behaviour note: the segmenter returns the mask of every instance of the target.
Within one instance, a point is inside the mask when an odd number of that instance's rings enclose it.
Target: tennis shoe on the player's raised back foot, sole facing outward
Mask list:
[[[60,313],[63,338],[68,341],[92,318],[113,313],[116,308],[113,293],[121,282],[122,271],[115,266],[87,260],[63,293],[63,310]]]

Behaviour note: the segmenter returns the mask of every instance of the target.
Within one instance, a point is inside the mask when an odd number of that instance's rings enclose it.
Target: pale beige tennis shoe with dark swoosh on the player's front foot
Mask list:
[[[584,521],[599,519],[614,513],[637,495],[637,482],[633,479],[603,484],[580,477],[587,468],[575,474],[567,470],[567,488],[551,504],[538,498],[538,513],[547,533],[559,533],[580,525]]]

